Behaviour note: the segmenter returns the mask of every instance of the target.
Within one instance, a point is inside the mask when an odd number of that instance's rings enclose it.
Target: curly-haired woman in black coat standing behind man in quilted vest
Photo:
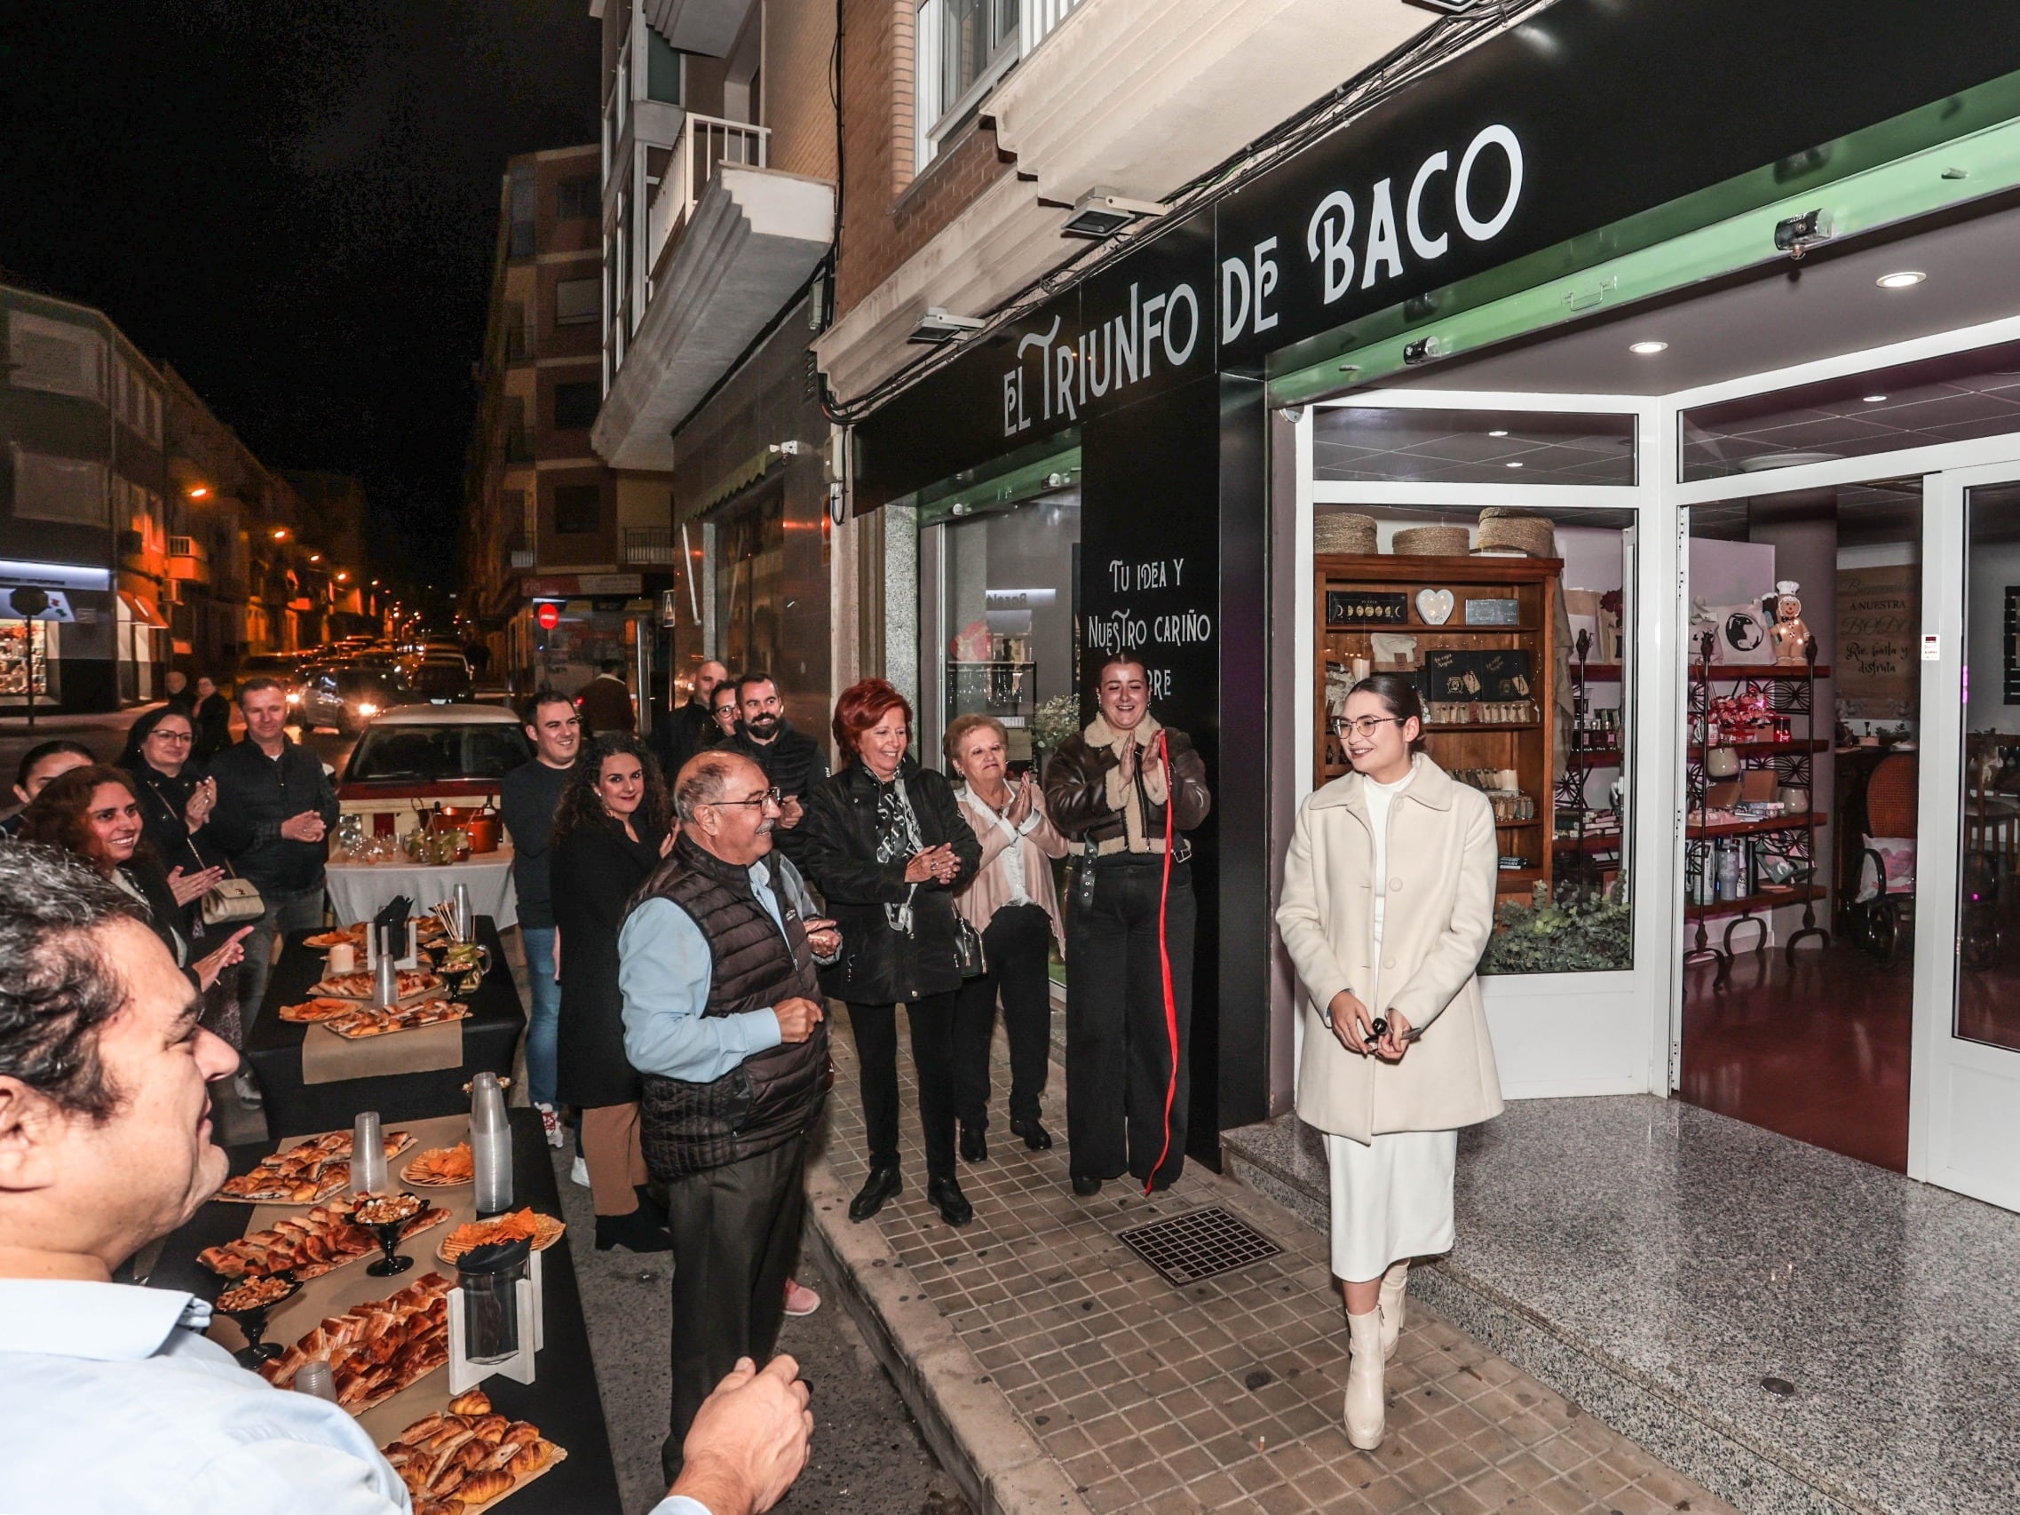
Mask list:
[[[673,844],[667,782],[644,743],[608,731],[588,743],[553,812],[553,957],[562,980],[556,1097],[582,1111],[582,1159],[596,1248],[665,1252],[667,1212],[646,1192],[638,1075],[624,1056],[618,929],[630,897]]]

